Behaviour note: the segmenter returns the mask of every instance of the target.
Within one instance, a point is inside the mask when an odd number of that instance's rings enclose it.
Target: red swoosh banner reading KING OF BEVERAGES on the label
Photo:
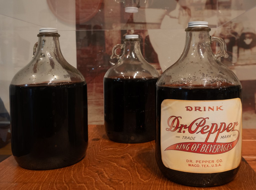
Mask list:
[[[229,143],[184,142],[171,145],[165,150],[180,150],[199,154],[222,154],[234,148],[238,140],[239,133],[237,139]]]

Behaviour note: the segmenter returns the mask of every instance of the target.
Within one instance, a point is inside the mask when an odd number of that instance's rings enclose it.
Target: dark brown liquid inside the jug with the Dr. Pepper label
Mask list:
[[[195,86],[178,87],[178,86],[157,86],[157,126],[156,126],[156,161],[159,169],[164,176],[169,180],[176,183],[189,185],[189,186],[217,186],[230,182],[238,172],[240,165],[232,170],[219,172],[219,173],[190,173],[182,172],[167,168],[162,162],[161,156],[161,139],[160,139],[160,126],[161,126],[161,104],[164,99],[178,99],[178,100],[224,100],[240,98],[242,100],[242,87],[241,86]]]

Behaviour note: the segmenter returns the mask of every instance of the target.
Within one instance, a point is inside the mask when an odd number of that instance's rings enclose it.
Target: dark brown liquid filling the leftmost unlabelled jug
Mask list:
[[[12,153],[27,169],[80,161],[88,146],[87,85],[10,85]]]

